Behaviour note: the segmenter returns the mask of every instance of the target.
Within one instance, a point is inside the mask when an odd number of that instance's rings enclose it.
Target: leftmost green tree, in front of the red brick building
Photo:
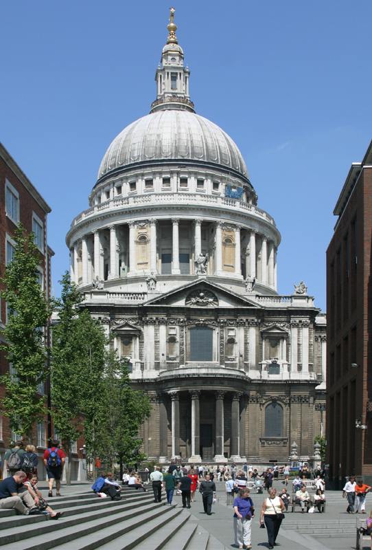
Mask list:
[[[34,234],[22,225],[15,232],[12,261],[1,279],[5,289],[1,298],[8,307],[8,320],[1,345],[13,373],[1,377],[5,397],[2,414],[10,419],[10,427],[18,434],[32,437],[32,426],[45,415],[45,396],[38,386],[47,380],[45,327],[51,314],[49,299],[41,288],[38,268],[43,258],[34,243]]]

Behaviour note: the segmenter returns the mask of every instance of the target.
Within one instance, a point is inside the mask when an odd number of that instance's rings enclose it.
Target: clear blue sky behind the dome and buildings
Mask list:
[[[279,292],[325,308],[325,250],[351,162],[372,137],[370,0],[174,1],[191,98],[240,147],[277,222]],[[0,140],[50,204],[54,289],[65,234],[113,137],[148,113],[170,0],[1,5]]]

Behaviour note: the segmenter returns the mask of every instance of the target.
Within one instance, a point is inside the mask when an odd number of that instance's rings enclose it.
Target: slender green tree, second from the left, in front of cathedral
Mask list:
[[[66,477],[71,483],[71,449],[100,391],[105,338],[100,324],[81,308],[81,294],[68,272],[60,283],[59,320],[52,331],[51,415],[69,457]]]

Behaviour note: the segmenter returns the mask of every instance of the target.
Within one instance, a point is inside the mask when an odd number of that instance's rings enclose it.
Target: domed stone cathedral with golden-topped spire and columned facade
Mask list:
[[[275,220],[235,142],[196,113],[174,8],[150,114],[108,147],[67,233],[71,279],[152,412],[150,459],[312,459],[325,429],[325,315],[277,291]],[[296,450],[297,449],[297,450]]]

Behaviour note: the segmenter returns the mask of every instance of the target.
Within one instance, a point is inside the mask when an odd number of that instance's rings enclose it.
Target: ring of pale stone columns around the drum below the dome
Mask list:
[[[179,237],[179,218],[172,218],[172,275],[181,274],[180,270],[180,237]],[[200,219],[189,220],[194,228],[194,259],[199,254],[205,252],[202,250],[202,223]],[[242,278],[242,260],[245,261],[245,276],[255,278],[259,283],[277,289],[277,247],[275,242],[269,240],[264,234],[255,230],[244,228],[241,225],[227,224],[223,222],[209,222],[215,225],[215,237],[213,246],[214,272],[220,276],[235,276]],[[159,236],[158,222],[156,219],[150,219],[145,222],[130,222],[127,224],[109,225],[102,230],[94,230],[86,233],[78,241],[75,241],[70,248],[71,259],[71,279],[75,283],[87,285],[91,283],[92,278],[108,280],[119,278],[118,254],[120,245],[118,238],[118,228],[128,226],[128,276],[137,274],[137,226],[147,223],[146,239],[148,239],[150,250],[148,258],[148,270],[154,274],[161,272],[161,263],[157,256]],[[231,243],[235,248],[233,272],[224,270],[223,248],[226,242],[224,230],[233,234],[234,242]],[[102,243],[102,234],[106,232],[106,243]],[[108,237],[109,232],[109,237]],[[242,241],[244,245],[242,246]],[[108,264],[108,274],[104,276],[104,257],[106,248],[106,260]],[[81,267],[79,269],[79,262]],[[141,273],[143,270],[139,270]],[[191,269],[191,274],[193,270]]]

